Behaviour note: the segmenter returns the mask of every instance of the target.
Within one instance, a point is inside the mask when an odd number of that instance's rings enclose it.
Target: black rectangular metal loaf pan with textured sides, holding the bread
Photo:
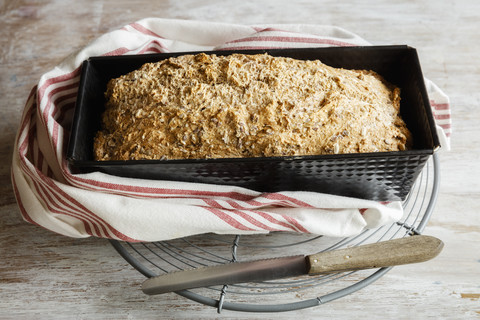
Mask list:
[[[228,55],[239,51],[212,51]],[[73,173],[235,185],[261,192],[316,191],[370,200],[404,200],[428,158],[440,146],[417,52],[408,46],[247,50],[246,54],[369,69],[401,88],[401,113],[414,148],[377,152],[241,159],[95,161],[93,138],[101,128],[107,82],[147,62],[195,52],[92,57],[82,65],[67,159]]]

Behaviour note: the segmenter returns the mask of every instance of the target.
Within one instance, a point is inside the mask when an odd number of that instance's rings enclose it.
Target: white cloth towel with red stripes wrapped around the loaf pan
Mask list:
[[[70,237],[157,241],[207,232],[270,231],[351,236],[402,216],[388,204],[313,192],[259,193],[232,186],[72,174],[65,149],[80,77],[90,56],[368,43],[332,26],[244,26],[144,19],[107,33],[44,74],[27,99],[12,181],[23,218]],[[439,134],[448,145],[448,98],[427,81]]]

